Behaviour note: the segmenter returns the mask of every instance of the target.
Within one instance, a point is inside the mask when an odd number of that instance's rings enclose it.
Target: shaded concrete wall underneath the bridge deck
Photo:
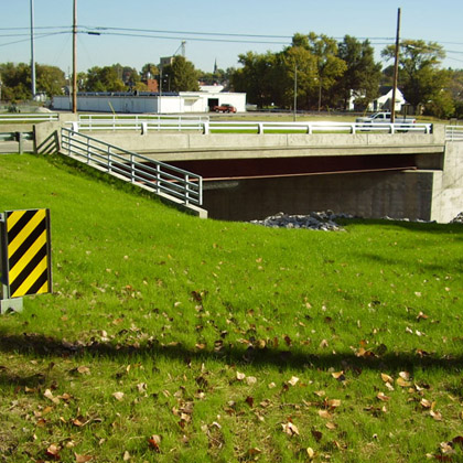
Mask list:
[[[278,212],[308,214],[332,209],[362,217],[432,218],[434,172],[374,172],[206,184],[209,217],[262,219]]]

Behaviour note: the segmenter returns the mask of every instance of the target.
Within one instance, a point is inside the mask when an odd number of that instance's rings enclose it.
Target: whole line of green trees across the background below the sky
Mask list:
[[[162,91],[198,90],[198,82],[226,84],[247,94],[259,108],[321,110],[344,109],[354,100],[362,110],[379,96],[381,86],[392,86],[395,45],[381,52],[388,66],[375,61],[368,40],[345,35],[336,41],[324,34],[297,33],[280,52],[247,52],[238,56],[238,68],[204,73],[183,56],[175,56],[159,69],[147,63],[141,71],[130,66],[95,66],[79,73],[79,91],[127,91],[148,89],[155,78]],[[463,71],[444,69],[441,45],[421,40],[400,44],[398,87],[414,111],[439,118],[463,117]],[[0,64],[2,99],[31,98],[30,65]],[[67,86],[66,86],[67,84]],[[65,74],[57,67],[36,65],[36,89],[49,97],[68,89]]]

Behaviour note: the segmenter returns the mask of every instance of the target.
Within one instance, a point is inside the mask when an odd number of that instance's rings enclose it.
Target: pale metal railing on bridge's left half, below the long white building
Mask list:
[[[203,123],[209,120],[208,116],[158,116],[158,115],[80,115],[78,130],[203,130]]]

